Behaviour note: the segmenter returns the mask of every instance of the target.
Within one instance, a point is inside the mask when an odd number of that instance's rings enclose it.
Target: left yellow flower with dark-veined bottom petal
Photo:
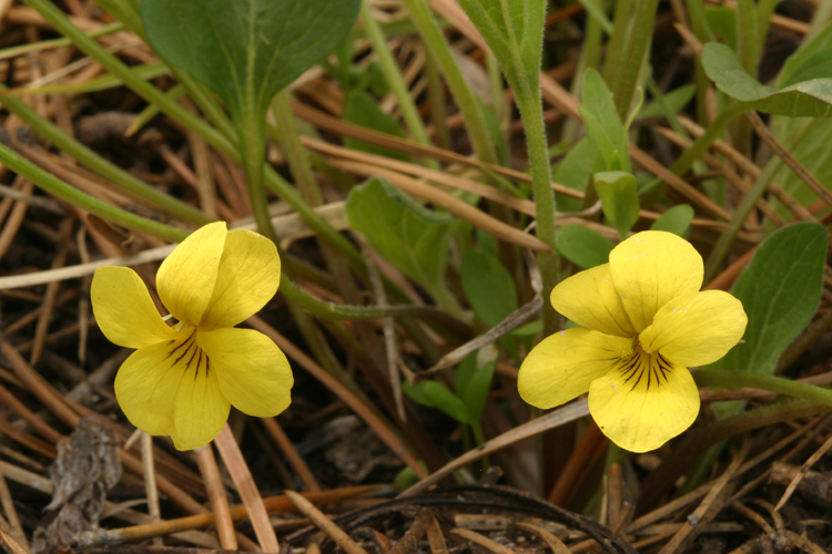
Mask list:
[[[231,404],[258,418],[288,407],[288,361],[265,335],[235,329],[277,291],[281,260],[271,240],[213,223],[162,263],[156,288],[177,322],[159,315],[141,278],[102,267],[92,279],[92,310],[104,336],[135,348],[115,376],[115,397],[139,429],[170,435],[179,450],[220,433]]]

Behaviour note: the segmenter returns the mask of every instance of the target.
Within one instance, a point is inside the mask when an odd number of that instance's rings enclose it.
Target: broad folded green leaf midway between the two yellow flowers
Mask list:
[[[387,261],[428,291],[443,287],[448,243],[456,228],[449,216],[415,205],[387,181],[374,178],[352,191],[349,225]]]

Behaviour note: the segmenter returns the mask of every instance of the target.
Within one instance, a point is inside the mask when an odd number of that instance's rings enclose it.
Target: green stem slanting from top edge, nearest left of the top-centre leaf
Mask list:
[[[445,80],[448,82],[450,93],[454,95],[454,100],[457,106],[459,106],[465,124],[468,127],[468,136],[474,145],[474,151],[481,162],[497,163],[497,153],[494,148],[483,110],[477,103],[474,92],[468,86],[468,82],[465,75],[463,75],[459,64],[454,59],[454,54],[450,51],[448,42],[445,40],[442,29],[430,13],[427,1],[402,0],[402,3],[405,4],[410,19],[419,30],[425,47],[430,51],[434,60],[439,65],[439,70],[445,75]]]

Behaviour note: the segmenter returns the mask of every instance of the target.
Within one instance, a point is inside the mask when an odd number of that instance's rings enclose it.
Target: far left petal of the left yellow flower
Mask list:
[[[143,348],[179,336],[159,315],[144,281],[129,267],[98,268],[90,298],[101,332],[119,346]]]

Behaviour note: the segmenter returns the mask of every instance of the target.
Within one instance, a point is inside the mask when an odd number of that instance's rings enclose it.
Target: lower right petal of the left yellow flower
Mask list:
[[[292,369],[277,345],[253,329],[221,328],[197,335],[209,356],[211,373],[234,408],[257,418],[271,418],[290,402]]]

